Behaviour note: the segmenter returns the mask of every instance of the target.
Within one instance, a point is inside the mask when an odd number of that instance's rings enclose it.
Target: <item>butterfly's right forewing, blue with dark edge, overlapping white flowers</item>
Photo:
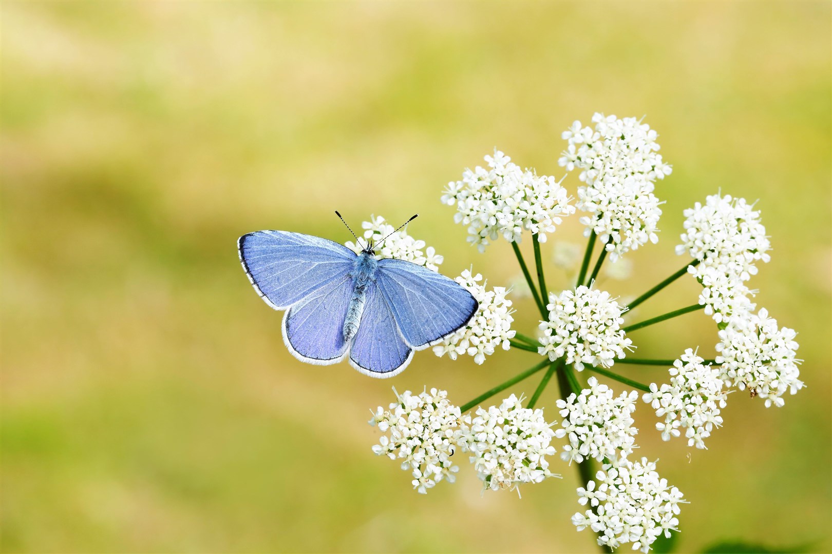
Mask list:
[[[458,282],[412,262],[379,260],[375,278],[404,341],[415,350],[465,326],[479,307]]]

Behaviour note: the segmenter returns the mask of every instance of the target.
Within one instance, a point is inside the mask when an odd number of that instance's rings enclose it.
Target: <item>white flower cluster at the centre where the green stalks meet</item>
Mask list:
[[[541,321],[540,355],[549,360],[566,356],[567,364],[578,371],[584,364],[610,367],[615,358],[624,357],[624,349],[632,350],[632,341],[624,336],[621,325],[626,308],[618,305],[609,292],[589,287],[549,293],[549,321]]]

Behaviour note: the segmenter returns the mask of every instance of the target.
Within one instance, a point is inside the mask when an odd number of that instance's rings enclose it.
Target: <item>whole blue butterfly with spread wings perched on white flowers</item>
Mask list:
[[[458,282],[426,267],[376,260],[383,242],[356,254],[325,238],[257,231],[240,237],[237,248],[257,294],[286,311],[283,340],[295,358],[330,365],[349,355],[364,375],[392,377],[414,351],[467,325],[479,304]]]

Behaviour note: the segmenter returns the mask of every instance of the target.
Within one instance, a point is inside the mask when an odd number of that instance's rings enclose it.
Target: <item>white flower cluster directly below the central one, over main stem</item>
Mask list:
[[[615,460],[632,453],[638,429],[631,414],[636,410],[638,393],[613,397],[612,389],[599,385],[595,377],[587,380],[588,389],[580,395],[572,393],[567,400],[557,400],[561,410],[561,427],[555,431],[558,439],[567,437],[561,458],[581,463],[584,458]]]

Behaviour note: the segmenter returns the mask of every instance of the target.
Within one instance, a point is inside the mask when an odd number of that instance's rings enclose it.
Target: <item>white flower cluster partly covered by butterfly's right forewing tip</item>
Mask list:
[[[512,331],[512,301],[506,298],[508,293],[504,287],[494,287],[488,291],[488,282],[483,276],[471,275],[466,269],[456,282],[468,289],[473,297],[479,302],[477,313],[468,321],[468,325],[458,331],[446,336],[437,346],[433,346],[433,353],[438,356],[448,354],[451,360],[456,360],[458,355],[473,355],[477,364],[485,361],[485,356],[492,355],[498,346],[508,350],[509,339],[514,338]]]

